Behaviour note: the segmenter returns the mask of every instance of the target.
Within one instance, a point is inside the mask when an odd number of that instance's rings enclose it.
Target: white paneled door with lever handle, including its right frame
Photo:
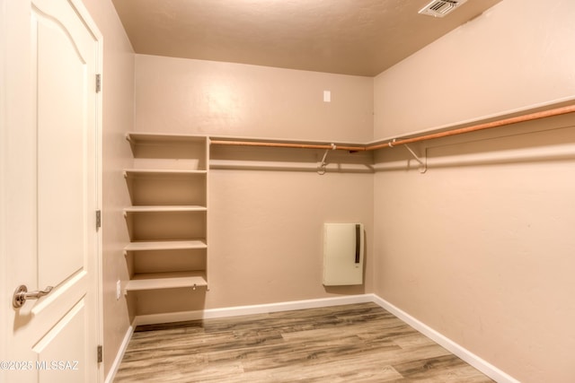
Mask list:
[[[102,39],[80,1],[0,2],[0,381],[102,381]],[[16,308],[20,285],[53,289]]]

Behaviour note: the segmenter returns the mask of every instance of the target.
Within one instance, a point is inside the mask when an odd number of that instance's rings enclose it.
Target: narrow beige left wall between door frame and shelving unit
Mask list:
[[[111,0],[83,1],[103,35],[102,306],[107,375],[130,325],[126,300],[116,300],[116,281],[128,279],[122,254],[128,232],[121,209],[129,198],[121,170],[131,164],[124,135],[134,125],[134,53]]]

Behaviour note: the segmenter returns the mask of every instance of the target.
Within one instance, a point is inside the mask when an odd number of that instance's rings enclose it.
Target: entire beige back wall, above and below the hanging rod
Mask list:
[[[331,103],[323,102],[326,90]],[[372,106],[367,77],[136,57],[138,131],[365,142],[372,135]],[[209,175],[209,292],[173,301],[140,293],[137,314],[373,291],[370,250],[364,286],[322,284],[323,222],[365,223],[370,248],[370,155],[331,153],[331,170],[320,176],[314,171],[320,151],[211,151],[218,166]],[[335,162],[353,172],[334,171]]]

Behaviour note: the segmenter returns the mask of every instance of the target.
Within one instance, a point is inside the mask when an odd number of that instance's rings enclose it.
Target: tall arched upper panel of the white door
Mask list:
[[[84,254],[89,251],[85,235],[90,197],[86,139],[93,129],[86,124],[86,62],[94,62],[90,57],[94,52],[90,46],[78,47],[65,26],[45,13],[33,13],[34,23],[37,40],[32,40],[32,51],[37,53],[39,96],[39,283],[57,286],[84,269]],[[56,220],[59,217],[66,219]]]

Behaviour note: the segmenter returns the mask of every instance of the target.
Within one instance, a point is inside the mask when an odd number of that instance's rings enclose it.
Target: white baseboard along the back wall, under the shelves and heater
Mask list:
[[[197,311],[181,311],[167,314],[138,315],[134,319],[135,326],[152,325],[155,323],[172,323],[186,320],[237,317],[240,315],[266,314],[269,312],[288,311],[293,309],[314,309],[328,306],[341,306],[353,303],[373,301],[371,294],[349,295],[345,297],[322,298],[317,300],[293,300],[280,303],[268,303],[252,306],[235,306],[224,309],[205,309]]]

